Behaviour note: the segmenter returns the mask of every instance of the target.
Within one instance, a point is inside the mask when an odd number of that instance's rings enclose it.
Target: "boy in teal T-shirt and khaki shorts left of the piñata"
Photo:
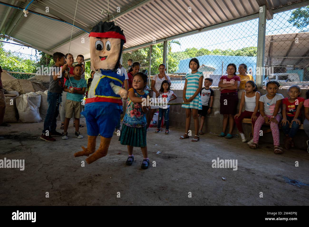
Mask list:
[[[86,80],[81,78],[83,74],[82,65],[78,64],[74,66],[74,77],[66,80],[64,85],[64,91],[68,92],[66,95],[66,119],[64,121],[64,132],[62,133],[62,139],[68,139],[68,126],[70,119],[73,116],[75,118],[75,137],[81,139],[83,136],[79,132],[79,118],[82,109],[82,101],[84,98],[85,90],[87,88]]]

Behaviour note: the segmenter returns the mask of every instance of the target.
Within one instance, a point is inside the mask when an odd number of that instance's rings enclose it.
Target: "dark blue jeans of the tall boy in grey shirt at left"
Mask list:
[[[50,91],[47,92],[48,109],[44,120],[44,129],[42,131],[43,134],[46,133],[46,130],[49,130],[49,132],[56,131],[57,116],[59,115],[59,105],[62,101],[61,97],[61,93]]]

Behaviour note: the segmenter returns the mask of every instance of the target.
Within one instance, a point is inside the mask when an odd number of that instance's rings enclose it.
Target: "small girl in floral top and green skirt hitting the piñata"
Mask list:
[[[123,118],[123,125],[119,141],[122,145],[127,145],[129,157],[126,165],[131,166],[134,161],[133,147],[140,147],[144,156],[142,169],[147,169],[149,159],[146,145],[146,113],[148,108],[142,106],[142,102],[147,98],[144,88],[147,85],[147,76],[143,73],[136,73],[133,76],[132,86],[128,91],[127,110]],[[144,99],[143,99],[144,98]]]

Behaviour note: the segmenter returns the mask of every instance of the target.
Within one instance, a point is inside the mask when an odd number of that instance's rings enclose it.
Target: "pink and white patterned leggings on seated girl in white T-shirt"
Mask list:
[[[268,119],[271,118],[271,115],[266,115],[268,117]],[[276,116],[276,120],[278,122],[280,122],[281,120],[281,116],[280,115],[277,115]],[[259,142],[259,138],[260,138],[260,130],[261,130],[261,127],[262,125],[265,123],[265,120],[264,118],[260,115],[257,119],[256,119],[256,122],[255,122],[255,125],[254,125],[254,133],[253,133],[253,142],[254,143],[258,143]],[[279,127],[278,127],[278,124],[274,123],[274,122],[270,122],[270,129],[271,129],[271,132],[273,134],[273,145],[274,146],[279,146],[280,145],[280,142],[279,142]]]

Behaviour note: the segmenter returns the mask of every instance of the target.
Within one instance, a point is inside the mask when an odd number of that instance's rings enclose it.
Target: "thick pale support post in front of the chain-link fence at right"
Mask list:
[[[266,33],[266,6],[260,6],[259,28],[257,35],[256,54],[256,86],[263,87],[264,80],[264,55],[265,55],[265,33]]]

